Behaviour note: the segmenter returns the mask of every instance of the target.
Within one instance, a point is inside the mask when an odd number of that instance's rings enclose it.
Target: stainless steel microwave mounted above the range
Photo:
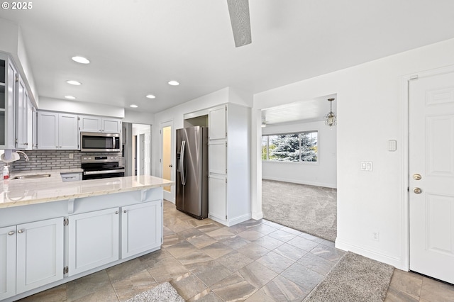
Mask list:
[[[82,152],[120,152],[119,133],[80,133],[80,151]]]

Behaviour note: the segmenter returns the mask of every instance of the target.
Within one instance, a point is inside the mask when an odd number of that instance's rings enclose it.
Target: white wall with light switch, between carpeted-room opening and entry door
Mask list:
[[[337,94],[336,247],[408,268],[405,79],[409,74],[454,65],[453,53],[454,39],[446,40],[254,96],[253,118],[257,121],[262,108]],[[388,140],[397,140],[396,152],[387,151]],[[260,171],[260,146],[253,147],[253,152],[253,169]],[[373,171],[360,171],[361,161],[372,161]],[[257,181],[253,179],[253,184]],[[261,191],[257,191],[253,207],[256,210],[260,205]],[[372,231],[380,231],[380,241],[372,240]]]

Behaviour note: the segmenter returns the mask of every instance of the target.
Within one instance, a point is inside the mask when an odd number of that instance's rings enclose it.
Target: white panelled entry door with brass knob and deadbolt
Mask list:
[[[454,73],[409,88],[410,269],[454,284]]]

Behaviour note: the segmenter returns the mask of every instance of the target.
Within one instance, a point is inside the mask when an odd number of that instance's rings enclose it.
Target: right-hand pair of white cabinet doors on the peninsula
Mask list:
[[[161,245],[161,201],[72,215],[68,222],[68,276]]]

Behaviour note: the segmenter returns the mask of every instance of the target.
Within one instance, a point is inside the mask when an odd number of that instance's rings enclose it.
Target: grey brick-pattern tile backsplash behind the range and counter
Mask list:
[[[77,169],[80,168],[81,158],[83,155],[116,155],[120,160],[120,165],[123,165],[121,152],[119,153],[90,153],[80,152],[77,150],[28,150],[26,151],[28,158],[26,162],[23,155],[16,162],[11,162],[10,172],[32,171],[32,170],[50,170],[50,169]],[[74,158],[70,158],[70,154]]]

